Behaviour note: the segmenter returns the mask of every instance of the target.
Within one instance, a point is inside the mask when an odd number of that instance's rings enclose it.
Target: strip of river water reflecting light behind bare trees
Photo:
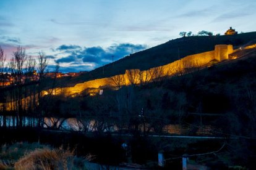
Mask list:
[[[4,122],[6,127],[16,127],[17,126],[17,116],[6,116],[4,121],[4,116],[0,116],[0,126],[4,127]],[[127,131],[129,128],[135,129],[135,127],[128,126],[117,126],[114,123],[103,123],[95,119],[77,119],[77,118],[54,118],[45,117],[43,119],[33,118],[25,116],[22,118],[23,127],[44,127],[46,129],[55,129],[62,131],[79,131],[79,132],[119,132]],[[139,131],[144,131],[143,124],[139,124]],[[168,124],[163,126],[161,132],[165,134],[179,134],[179,135],[211,135],[211,130],[214,129],[211,126],[202,126],[199,128],[182,126],[180,124]],[[145,124],[145,131],[156,132],[156,129],[150,127],[150,124]]]

